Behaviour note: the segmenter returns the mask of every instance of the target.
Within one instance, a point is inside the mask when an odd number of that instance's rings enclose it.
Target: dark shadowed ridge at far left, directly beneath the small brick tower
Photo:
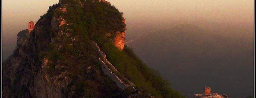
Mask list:
[[[14,53],[3,62],[3,98],[32,97],[29,86],[38,72],[33,35],[29,30],[19,32]]]

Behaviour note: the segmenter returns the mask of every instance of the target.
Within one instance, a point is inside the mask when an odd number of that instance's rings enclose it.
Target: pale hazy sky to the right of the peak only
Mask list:
[[[108,0],[132,19],[251,21],[253,0]],[[121,6],[120,6],[121,5]]]

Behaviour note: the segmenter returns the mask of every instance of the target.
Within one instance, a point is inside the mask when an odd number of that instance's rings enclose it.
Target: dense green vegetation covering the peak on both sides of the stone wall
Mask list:
[[[95,41],[120,74],[136,84],[142,94],[159,98],[183,97],[172,90],[170,83],[163,80],[159,73],[142,63],[129,47],[125,46],[123,51],[119,51],[112,44],[116,32],[125,30],[122,13],[104,2],[82,2],[83,5],[79,0],[62,0],[62,4],[50,6],[47,14],[39,19],[50,21],[53,18],[63,18],[69,24],[59,28],[59,31],[65,34],[60,34],[56,28],[50,30],[51,24],[44,24],[46,31],[37,35],[38,47],[41,47],[38,48],[39,56],[49,59],[47,73],[50,76],[59,76],[67,71],[68,77],[73,79],[63,90],[66,96],[112,98],[127,97],[131,93],[128,90],[120,91],[115,83],[101,72],[97,61],[99,54],[92,45],[92,41]],[[67,8],[67,12],[59,11],[58,7]],[[44,42],[45,39],[53,41],[47,45],[45,43],[49,42]]]

